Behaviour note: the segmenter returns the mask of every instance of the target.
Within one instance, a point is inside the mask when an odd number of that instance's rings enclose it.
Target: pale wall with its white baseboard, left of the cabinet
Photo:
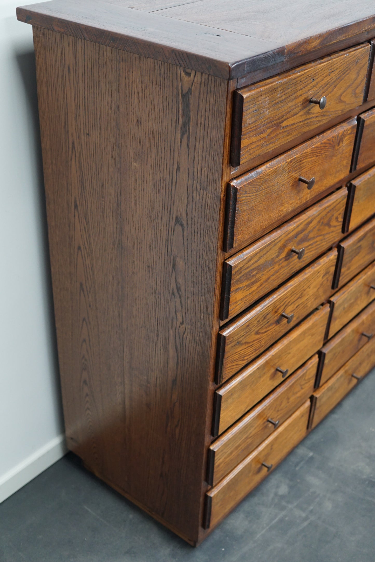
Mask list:
[[[0,0],[0,501],[65,453],[33,35],[19,4]]]

